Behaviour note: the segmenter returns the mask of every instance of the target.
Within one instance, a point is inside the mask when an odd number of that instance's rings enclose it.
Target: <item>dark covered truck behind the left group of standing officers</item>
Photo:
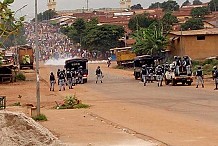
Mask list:
[[[85,58],[73,58],[65,61],[64,68],[72,69],[76,72],[79,71],[80,67],[82,67],[82,80],[83,83],[86,83],[88,80],[88,59]]]

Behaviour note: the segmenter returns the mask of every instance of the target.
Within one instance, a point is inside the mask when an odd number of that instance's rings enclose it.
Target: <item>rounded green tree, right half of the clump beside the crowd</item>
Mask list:
[[[83,45],[89,50],[98,50],[101,52],[119,45],[119,38],[124,36],[124,28],[116,25],[93,26],[86,30],[83,37]]]

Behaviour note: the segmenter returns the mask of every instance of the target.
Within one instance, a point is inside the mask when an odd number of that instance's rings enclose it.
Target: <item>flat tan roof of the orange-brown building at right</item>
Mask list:
[[[200,29],[200,30],[189,30],[189,31],[172,31],[170,34],[178,35],[181,34],[183,36],[188,35],[215,35],[218,34],[218,28],[212,28],[212,29]]]

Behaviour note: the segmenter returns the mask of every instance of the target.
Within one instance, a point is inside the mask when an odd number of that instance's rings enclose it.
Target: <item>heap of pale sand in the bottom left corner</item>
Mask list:
[[[1,146],[58,146],[57,138],[32,118],[22,113],[0,111]]]

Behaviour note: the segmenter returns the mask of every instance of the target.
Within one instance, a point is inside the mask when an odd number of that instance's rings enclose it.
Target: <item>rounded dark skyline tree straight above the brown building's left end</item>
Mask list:
[[[179,5],[176,1],[168,0],[162,3],[161,8],[163,11],[178,11]]]

